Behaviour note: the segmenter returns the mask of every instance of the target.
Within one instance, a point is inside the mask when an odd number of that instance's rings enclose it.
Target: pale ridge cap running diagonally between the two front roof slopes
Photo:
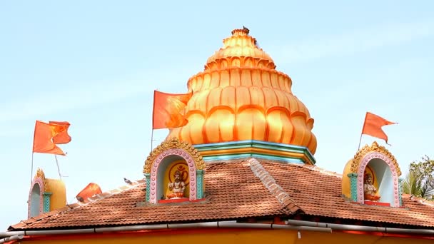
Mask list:
[[[277,198],[278,202],[283,205],[284,208],[288,208],[291,213],[295,213],[297,210],[301,210],[301,208],[296,204],[296,202],[291,198],[291,196],[286,193],[285,190],[276,183],[276,180],[271,176],[265,168],[263,168],[261,162],[259,162],[256,158],[249,158],[248,166],[250,166],[251,170],[258,177],[263,185]]]

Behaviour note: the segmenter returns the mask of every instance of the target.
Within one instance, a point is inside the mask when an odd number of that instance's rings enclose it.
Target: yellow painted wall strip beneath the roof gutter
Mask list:
[[[57,235],[57,240],[46,240],[38,238],[31,240],[31,243],[82,243],[82,244],[95,244],[95,243],[204,243],[204,244],[308,244],[308,243],[348,243],[348,244],[413,244],[413,243],[434,243],[434,240],[420,239],[420,238],[397,238],[385,237],[381,235],[361,235],[350,233],[319,233],[311,231],[301,231],[301,238],[298,238],[296,230],[262,230],[262,229],[246,229],[246,230],[233,230],[233,229],[218,229],[218,230],[193,230],[179,232],[176,230],[157,231],[150,233],[118,233],[118,235],[102,235],[95,238],[95,235],[82,235],[81,239],[77,236],[69,235],[68,237],[61,237]],[[24,239],[21,242],[26,242]]]

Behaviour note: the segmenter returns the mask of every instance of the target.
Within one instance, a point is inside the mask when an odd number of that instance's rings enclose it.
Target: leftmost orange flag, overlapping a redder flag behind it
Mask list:
[[[66,131],[66,128],[66,126],[36,121],[33,138],[33,152],[65,155],[61,148],[53,143],[52,139],[59,133]]]

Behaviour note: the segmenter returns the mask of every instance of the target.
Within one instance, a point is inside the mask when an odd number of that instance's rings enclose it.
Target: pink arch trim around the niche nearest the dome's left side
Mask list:
[[[190,177],[190,200],[196,200],[196,163],[194,162],[193,157],[188,153],[187,151],[180,149],[180,148],[171,148],[167,149],[158,156],[156,156],[156,159],[152,162],[151,166],[151,185],[149,185],[149,190],[151,194],[149,195],[149,202],[150,203],[157,203],[157,185],[158,182],[158,167],[160,166],[160,163],[163,161],[164,158],[168,156],[180,156],[183,158],[188,166],[188,177]]]

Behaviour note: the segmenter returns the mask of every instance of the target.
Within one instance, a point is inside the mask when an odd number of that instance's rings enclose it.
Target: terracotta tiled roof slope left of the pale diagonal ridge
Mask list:
[[[117,194],[71,205],[11,226],[11,229],[80,228],[104,225],[228,220],[274,215],[291,215],[298,210],[281,203],[246,161],[211,163],[205,173],[206,199],[196,203],[147,204],[145,183]],[[103,193],[104,194],[104,193]]]

